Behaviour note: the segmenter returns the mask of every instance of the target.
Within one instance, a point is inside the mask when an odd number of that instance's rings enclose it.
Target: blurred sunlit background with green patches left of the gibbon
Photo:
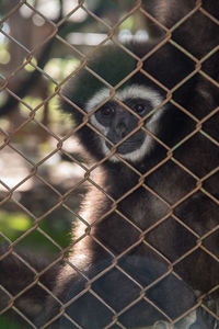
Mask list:
[[[89,164],[58,90],[112,27],[119,42],[157,35],[138,3],[0,1],[1,242],[50,260],[69,245]],[[0,317],[0,328],[15,327]]]

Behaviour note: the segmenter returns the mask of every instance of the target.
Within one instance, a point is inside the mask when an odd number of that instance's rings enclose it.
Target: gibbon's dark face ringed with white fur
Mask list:
[[[110,90],[106,88],[95,93],[87,103],[87,112],[89,113],[94,110],[108,97]],[[119,104],[116,99],[122,101],[125,105]],[[149,87],[138,84],[129,86],[117,91],[115,100],[111,99],[92,114],[90,122],[95,128],[104,134],[113,145],[116,145],[136,129],[139,125],[139,120],[160,105],[163,100],[164,99],[158,91]],[[136,115],[129,112],[126,106]],[[159,109],[145,122],[143,126],[153,134],[158,126],[155,122],[160,117],[161,112],[163,111]],[[103,155],[106,156],[108,155],[112,145],[104,137],[100,138]],[[151,141],[152,139],[146,131],[141,128],[136,129],[131,136],[117,146],[117,154],[124,159],[134,162],[141,160],[150,150]],[[111,160],[117,161],[118,159],[113,156],[111,157]]]

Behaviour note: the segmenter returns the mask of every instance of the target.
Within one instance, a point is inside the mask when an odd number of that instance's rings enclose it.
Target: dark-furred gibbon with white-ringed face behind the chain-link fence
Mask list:
[[[193,7],[155,3],[151,12],[168,29]],[[175,30],[187,50],[168,41],[157,49],[158,41],[102,47],[60,93],[97,171],[72,250],[53,284],[45,273],[53,295],[44,296],[37,327],[217,328],[204,308],[218,303],[218,88],[197,60],[219,33],[197,15],[194,29]],[[205,68],[217,79],[215,55]],[[3,266],[7,260],[0,273]],[[7,285],[1,274],[0,282]]]

